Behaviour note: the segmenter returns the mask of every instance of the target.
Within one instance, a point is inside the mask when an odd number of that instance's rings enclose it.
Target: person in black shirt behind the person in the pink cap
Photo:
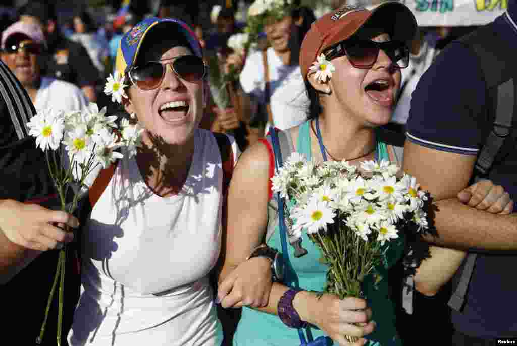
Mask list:
[[[20,20],[41,27],[48,51],[42,57],[44,74],[79,86],[88,100],[97,100],[99,72],[86,49],[63,37],[57,29],[55,8],[50,3],[29,1],[19,9]]]

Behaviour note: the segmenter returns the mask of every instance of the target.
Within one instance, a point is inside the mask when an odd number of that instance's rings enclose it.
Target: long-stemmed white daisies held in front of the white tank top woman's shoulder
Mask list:
[[[106,115],[105,107],[99,110],[97,104],[90,103],[88,108],[77,112],[43,109],[27,123],[29,135],[36,137],[36,146],[47,157],[61,210],[70,214],[75,212],[80,198],[87,193],[101,168],[107,168],[123,157],[117,149],[127,147],[129,155],[135,154],[143,129],[138,124],[130,124],[127,119],[123,119],[118,127],[116,119],[117,116]],[[71,201],[67,200],[70,195],[73,196]],[[59,250],[54,284],[37,343],[42,341],[50,304],[59,280],[57,344],[60,344],[65,262],[66,246]]]

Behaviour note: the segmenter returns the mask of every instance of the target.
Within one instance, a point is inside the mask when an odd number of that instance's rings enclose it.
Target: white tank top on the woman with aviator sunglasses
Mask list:
[[[233,139],[232,149],[236,162]],[[134,158],[119,162],[82,234],[71,346],[221,344],[207,280],[221,245],[221,188],[219,148],[205,130],[178,195],[155,195]]]

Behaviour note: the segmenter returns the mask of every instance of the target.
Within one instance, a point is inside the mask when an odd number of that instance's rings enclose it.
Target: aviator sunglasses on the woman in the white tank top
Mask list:
[[[174,73],[187,82],[200,81],[206,74],[206,65],[202,58],[183,55],[172,59],[147,61],[144,65],[134,66],[129,71],[129,78],[142,90],[156,89],[163,81],[165,69],[169,64]]]

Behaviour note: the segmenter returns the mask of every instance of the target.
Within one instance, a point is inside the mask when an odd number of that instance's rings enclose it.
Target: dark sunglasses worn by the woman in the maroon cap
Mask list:
[[[355,68],[369,69],[377,61],[380,50],[386,53],[395,67],[403,69],[409,65],[409,49],[398,41],[343,41],[329,47],[323,54],[328,60],[346,56]]]

